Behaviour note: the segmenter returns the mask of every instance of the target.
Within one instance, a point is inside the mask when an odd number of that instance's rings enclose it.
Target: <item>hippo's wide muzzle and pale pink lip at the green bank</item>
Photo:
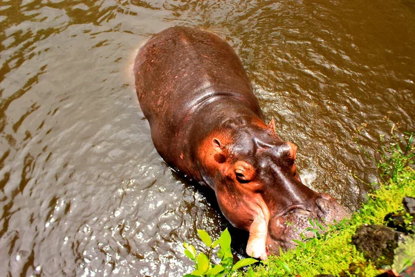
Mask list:
[[[324,232],[317,225],[325,227],[349,215],[340,204],[325,194],[315,200],[310,210],[294,206],[282,215],[270,216],[268,220],[259,216],[259,220],[255,220],[250,228],[246,253],[266,260],[269,255],[279,255],[280,250],[293,249],[296,246],[293,240],[313,238],[315,233],[311,229]]]

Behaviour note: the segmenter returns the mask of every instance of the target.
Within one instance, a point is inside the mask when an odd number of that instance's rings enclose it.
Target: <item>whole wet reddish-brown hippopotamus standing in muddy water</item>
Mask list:
[[[266,260],[295,246],[310,222],[347,212],[302,184],[297,146],[264,122],[239,57],[220,37],[175,26],[140,47],[133,66],[140,107],[161,157],[214,190],[225,218],[249,232],[246,253]]]

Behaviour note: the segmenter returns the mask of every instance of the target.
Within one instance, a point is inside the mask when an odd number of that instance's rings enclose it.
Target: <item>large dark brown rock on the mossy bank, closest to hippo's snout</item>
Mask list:
[[[394,263],[394,250],[401,239],[401,233],[387,226],[367,225],[356,230],[351,243],[376,267],[382,267]]]

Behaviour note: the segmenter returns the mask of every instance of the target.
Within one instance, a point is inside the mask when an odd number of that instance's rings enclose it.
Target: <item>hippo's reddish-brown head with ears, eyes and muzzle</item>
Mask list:
[[[213,184],[229,222],[249,231],[246,253],[266,260],[295,246],[300,234],[311,236],[312,222],[328,224],[347,216],[330,195],[302,184],[295,166],[297,146],[275,134],[273,120],[228,120],[212,132],[203,153],[203,179]]]

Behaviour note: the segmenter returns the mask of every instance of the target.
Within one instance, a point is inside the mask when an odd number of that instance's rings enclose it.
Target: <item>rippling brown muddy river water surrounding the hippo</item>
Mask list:
[[[374,154],[385,116],[414,131],[414,0],[3,0],[1,276],[179,276],[183,241],[228,226],[158,156],[133,87],[136,49],[174,25],[234,47],[305,183],[352,211],[353,174],[376,180],[356,139]]]

